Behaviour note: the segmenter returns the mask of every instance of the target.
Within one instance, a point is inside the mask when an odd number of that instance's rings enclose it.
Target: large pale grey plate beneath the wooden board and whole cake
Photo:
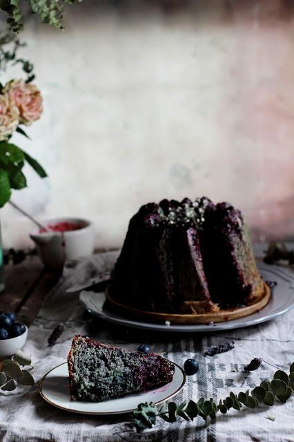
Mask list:
[[[215,332],[217,330],[238,329],[264,323],[267,320],[276,318],[294,307],[294,272],[277,265],[258,265],[259,271],[264,280],[277,282],[272,291],[271,300],[266,307],[253,313],[246,318],[229,320],[225,323],[216,324],[195,324],[195,325],[165,325],[131,320],[104,308],[104,293],[93,291],[81,291],[79,299],[84,307],[93,315],[98,316],[110,323],[126,325],[138,329],[155,330],[158,332]]]

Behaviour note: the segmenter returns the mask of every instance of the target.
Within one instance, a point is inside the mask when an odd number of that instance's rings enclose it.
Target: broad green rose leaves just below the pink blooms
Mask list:
[[[0,142],[0,207],[10,200],[11,189],[20,190],[27,186],[26,177],[22,171],[26,162],[41,178],[47,176],[46,171],[35,158],[15,144]]]

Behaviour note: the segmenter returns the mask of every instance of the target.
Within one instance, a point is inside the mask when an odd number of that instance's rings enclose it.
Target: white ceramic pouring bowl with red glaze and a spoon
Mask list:
[[[48,231],[40,233],[38,229],[30,234],[35,242],[37,252],[46,267],[62,269],[66,260],[75,260],[88,256],[94,250],[94,232],[92,223],[83,218],[51,218],[43,222],[44,227],[70,222],[78,224],[79,229],[65,232]]]

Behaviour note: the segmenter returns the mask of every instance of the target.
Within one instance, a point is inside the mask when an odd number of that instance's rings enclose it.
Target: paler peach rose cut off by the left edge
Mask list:
[[[6,140],[19,125],[19,110],[8,94],[0,94],[0,141]]]

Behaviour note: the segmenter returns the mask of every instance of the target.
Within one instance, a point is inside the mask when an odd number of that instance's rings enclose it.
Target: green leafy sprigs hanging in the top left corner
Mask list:
[[[38,15],[42,23],[63,29],[64,6],[74,2],[75,0],[0,0],[0,10],[8,15],[6,21],[13,32],[19,32],[23,28],[23,6],[27,5],[30,12]]]

